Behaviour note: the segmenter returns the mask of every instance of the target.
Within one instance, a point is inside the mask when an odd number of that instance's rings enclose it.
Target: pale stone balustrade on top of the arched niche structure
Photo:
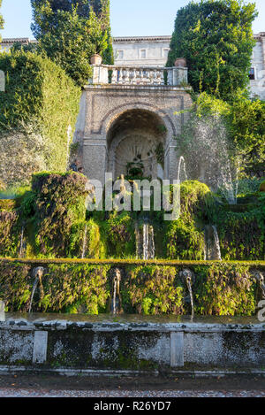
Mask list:
[[[135,67],[115,65],[92,65],[92,85],[148,85],[182,86],[187,84],[186,67]]]

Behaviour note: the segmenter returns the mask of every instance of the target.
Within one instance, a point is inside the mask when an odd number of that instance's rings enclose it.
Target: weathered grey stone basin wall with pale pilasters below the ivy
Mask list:
[[[265,374],[261,324],[8,318],[0,340],[0,373]]]

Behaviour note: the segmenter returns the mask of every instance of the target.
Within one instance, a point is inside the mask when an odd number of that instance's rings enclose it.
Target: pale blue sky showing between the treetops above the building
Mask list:
[[[190,0],[110,0],[113,36],[171,35],[180,7]],[[265,0],[256,0],[260,13],[254,22],[254,33],[265,32]],[[3,0],[5,19],[3,37],[33,38],[30,0]]]

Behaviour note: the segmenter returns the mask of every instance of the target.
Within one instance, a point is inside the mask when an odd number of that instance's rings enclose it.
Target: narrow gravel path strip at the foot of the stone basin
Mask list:
[[[265,397],[264,391],[255,390],[46,390],[0,388],[0,397]]]

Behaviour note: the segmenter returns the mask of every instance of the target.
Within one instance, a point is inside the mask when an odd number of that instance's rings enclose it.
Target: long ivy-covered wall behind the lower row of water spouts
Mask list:
[[[265,263],[186,263],[164,261],[90,261],[67,263],[63,260],[0,261],[0,299],[6,311],[28,311],[34,287],[34,268],[44,273],[34,292],[32,311],[110,312],[115,271],[120,272],[117,294],[119,310],[126,314],[189,315],[191,303],[181,271],[193,273],[194,311],[197,315],[252,316],[261,300],[254,277]]]

